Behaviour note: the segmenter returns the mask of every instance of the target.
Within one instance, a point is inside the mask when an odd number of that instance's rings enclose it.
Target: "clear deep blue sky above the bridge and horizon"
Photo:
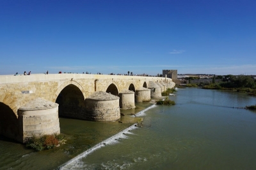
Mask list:
[[[0,4],[0,74],[256,74],[255,0]]]

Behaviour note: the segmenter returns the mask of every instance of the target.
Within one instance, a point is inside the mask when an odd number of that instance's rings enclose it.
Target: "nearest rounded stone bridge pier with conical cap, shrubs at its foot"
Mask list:
[[[58,104],[37,98],[18,110],[19,141],[44,134],[60,134]]]

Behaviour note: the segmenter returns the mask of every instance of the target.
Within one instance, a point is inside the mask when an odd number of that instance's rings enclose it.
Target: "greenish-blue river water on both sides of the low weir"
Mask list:
[[[256,169],[256,98],[225,90],[179,89],[175,106],[136,104],[144,124],[84,152],[132,123],[60,118],[67,143],[33,152],[0,139],[0,169]],[[234,108],[233,108],[234,107]],[[76,155],[81,154],[78,158]]]

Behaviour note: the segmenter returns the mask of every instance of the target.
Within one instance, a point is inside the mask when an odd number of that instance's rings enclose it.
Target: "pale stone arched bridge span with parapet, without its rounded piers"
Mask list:
[[[121,76],[105,74],[31,74],[0,76],[0,134],[17,139],[20,131],[18,110],[40,97],[58,103],[65,97],[64,105],[84,107],[84,100],[96,91],[118,96],[122,90],[146,87],[149,81],[171,83],[172,79],[151,76]],[[75,110],[76,111],[76,110]]]

